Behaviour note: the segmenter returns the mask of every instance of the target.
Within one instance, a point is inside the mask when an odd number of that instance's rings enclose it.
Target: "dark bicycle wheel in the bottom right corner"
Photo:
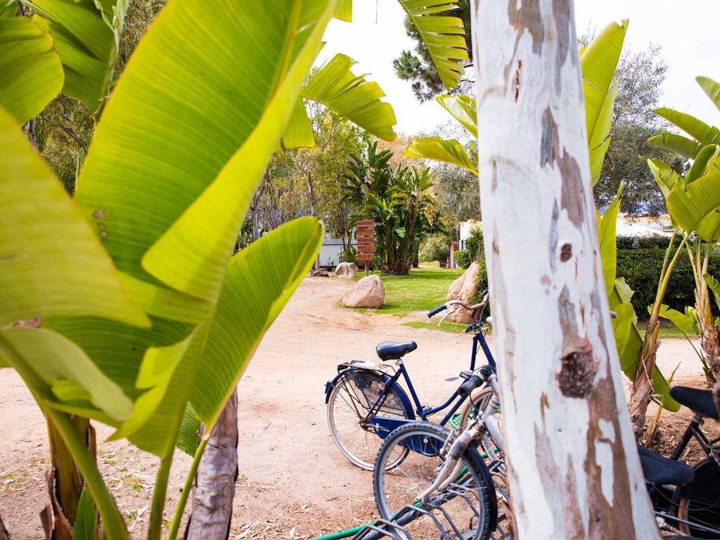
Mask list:
[[[678,518],[720,531],[720,467],[714,459],[698,462],[695,480],[679,486],[672,496],[672,507]],[[683,534],[702,539],[717,539],[719,534],[703,531],[686,523],[679,523]]]

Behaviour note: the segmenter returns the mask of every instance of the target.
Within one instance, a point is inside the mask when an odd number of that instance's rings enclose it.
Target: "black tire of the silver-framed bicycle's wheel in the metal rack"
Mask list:
[[[403,441],[409,441],[410,437],[416,436],[419,436],[422,439],[413,439],[413,441],[421,440],[423,441],[422,444],[426,444],[427,441],[432,439],[434,441],[431,444],[432,447],[439,449],[444,444],[450,433],[451,431],[449,431],[449,429],[438,426],[437,424],[418,421],[405,424],[405,426],[400,426],[399,428],[395,429],[395,431],[392,431],[392,433],[390,433],[390,435],[383,441],[382,446],[378,451],[377,459],[375,460],[375,467],[373,473],[374,498],[377,505],[377,510],[381,518],[390,520],[395,515],[395,512],[397,512],[397,510],[400,510],[400,508],[402,508],[404,505],[409,505],[413,503],[417,504],[417,500],[413,500],[411,502],[411,495],[408,495],[408,500],[403,501],[402,503],[396,503],[395,506],[397,506],[397,508],[392,508],[392,505],[388,500],[385,478],[388,474],[391,474],[391,471],[383,467],[383,464],[387,462],[387,459],[390,458],[392,451],[394,451],[397,445],[401,444]],[[410,444],[410,446],[413,446],[413,444]],[[418,446],[415,447],[418,448]],[[429,450],[431,447],[428,446],[426,448]],[[415,454],[423,455],[423,450],[421,450],[420,452],[412,452],[410,456],[406,456],[406,459],[410,460],[411,457],[415,456]],[[431,454],[431,452],[427,451],[424,455],[429,454]],[[439,457],[436,457],[436,459],[438,460],[438,464],[441,463]],[[466,451],[462,459],[464,462],[464,466],[467,468],[467,472],[469,472],[469,478],[467,478],[467,483],[465,484],[467,489],[466,494],[472,492],[472,494],[474,495],[474,499],[477,501],[477,506],[475,507],[475,510],[477,510],[477,513],[479,513],[480,516],[474,516],[476,523],[474,523],[473,525],[472,513],[467,512],[467,516],[471,516],[470,521],[467,524],[467,531],[469,531],[469,534],[467,534],[466,532],[463,534],[463,536],[460,536],[460,538],[462,538],[463,540],[485,540],[490,535],[490,532],[495,529],[498,519],[498,505],[497,500],[495,499],[495,487],[492,483],[490,473],[485,466],[485,462],[482,461],[482,458],[480,457],[480,454],[477,453],[476,449],[471,446]],[[410,464],[410,467],[412,467],[412,464]],[[424,490],[429,485],[429,483],[432,482],[434,478],[433,473],[437,472],[437,467],[428,467],[427,470],[431,473],[431,475],[423,478],[424,483],[418,486],[418,489],[415,490],[415,495]],[[402,471],[400,471],[399,469],[396,470],[395,474],[398,473],[402,474]],[[412,480],[410,482],[412,483]],[[470,482],[472,482],[472,485],[470,484]],[[445,503],[441,503],[441,505],[450,503],[453,499],[455,498],[449,496]],[[459,498],[456,499],[456,502],[459,503],[460,508],[464,508],[464,503],[462,503]],[[439,513],[438,517],[441,518],[441,520],[443,518],[443,516],[441,516]],[[432,521],[426,521],[428,528],[431,531],[435,532],[435,536],[432,536],[432,533],[426,534],[426,536],[423,536],[423,533],[413,533],[413,538],[416,535],[420,538],[437,538],[438,529],[433,529],[433,527],[435,526],[431,523]],[[456,526],[463,525],[462,523],[455,524]],[[411,523],[404,523],[404,526],[408,528],[410,528],[410,525]]]

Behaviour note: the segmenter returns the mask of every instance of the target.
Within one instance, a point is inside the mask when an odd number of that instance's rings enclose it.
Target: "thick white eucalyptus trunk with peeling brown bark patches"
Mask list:
[[[598,255],[572,0],[471,4],[515,538],[657,539]]]

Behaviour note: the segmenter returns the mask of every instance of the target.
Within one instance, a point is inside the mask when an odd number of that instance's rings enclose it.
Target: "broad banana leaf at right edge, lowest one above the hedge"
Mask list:
[[[667,196],[667,213],[688,233],[708,242],[720,235],[720,171],[706,174]]]

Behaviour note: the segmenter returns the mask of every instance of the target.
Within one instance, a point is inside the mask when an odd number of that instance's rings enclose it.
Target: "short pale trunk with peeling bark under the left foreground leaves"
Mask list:
[[[238,479],[238,390],[220,413],[200,459],[185,540],[226,540]]]

